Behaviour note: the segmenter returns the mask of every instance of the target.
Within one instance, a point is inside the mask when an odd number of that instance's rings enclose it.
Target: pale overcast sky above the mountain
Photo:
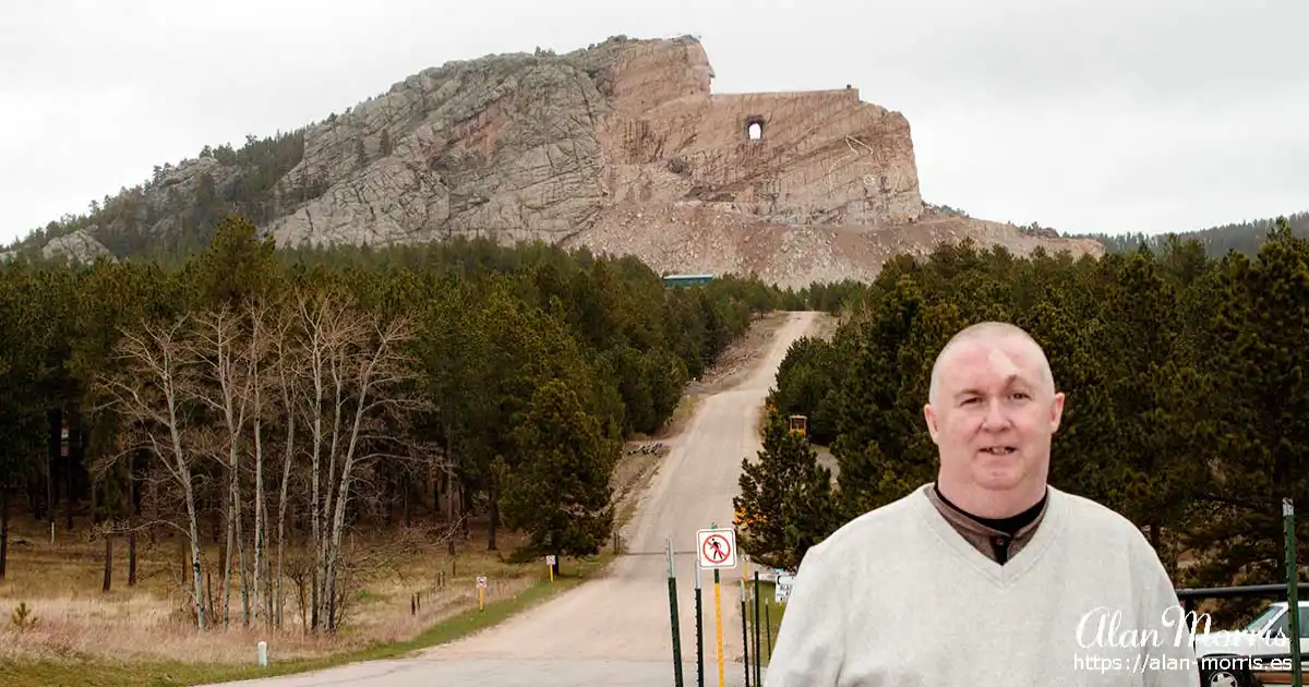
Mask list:
[[[1062,232],[1309,209],[1305,0],[43,0],[0,16],[0,242],[448,60],[698,35],[716,92],[860,89],[925,200]]]

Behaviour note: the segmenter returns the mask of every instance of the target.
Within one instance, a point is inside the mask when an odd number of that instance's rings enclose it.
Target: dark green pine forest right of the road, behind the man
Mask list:
[[[1285,582],[1284,499],[1309,551],[1309,238],[1284,219],[1254,256],[1174,238],[1100,259],[970,243],[895,259],[848,294],[831,340],[801,339],[781,364],[763,450],[742,463],[742,551],[793,569],[931,482],[936,352],[988,319],[1026,328],[1067,394],[1055,487],[1139,525],[1178,586]]]

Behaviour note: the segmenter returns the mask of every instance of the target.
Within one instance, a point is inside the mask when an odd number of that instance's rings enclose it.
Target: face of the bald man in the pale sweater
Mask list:
[[[970,489],[1042,489],[1063,394],[1043,379],[1039,349],[1020,336],[963,342],[939,376],[924,415],[944,476]]]

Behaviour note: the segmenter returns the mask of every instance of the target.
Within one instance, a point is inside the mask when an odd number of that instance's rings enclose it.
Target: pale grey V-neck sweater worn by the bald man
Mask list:
[[[1191,624],[1130,521],[1050,489],[1030,543],[999,565],[931,484],[809,550],[764,687],[1195,687]]]

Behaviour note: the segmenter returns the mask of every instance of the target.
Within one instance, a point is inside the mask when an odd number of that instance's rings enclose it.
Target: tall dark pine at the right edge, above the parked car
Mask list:
[[[1223,297],[1204,348],[1215,355],[1208,449],[1199,454],[1212,509],[1191,533],[1206,550],[1199,584],[1285,578],[1280,502],[1309,502],[1309,241],[1283,222],[1258,260],[1230,254],[1219,266]],[[1297,547],[1309,522],[1299,518]]]

